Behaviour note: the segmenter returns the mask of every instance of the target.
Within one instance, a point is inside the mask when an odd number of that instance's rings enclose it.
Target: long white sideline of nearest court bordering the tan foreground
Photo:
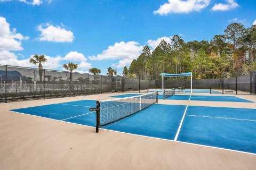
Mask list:
[[[84,124],[78,124],[78,123],[72,123],[72,122],[64,122],[64,121],[55,120],[55,119],[53,119],[53,118],[43,117],[43,116],[30,115],[30,114],[21,113],[21,112],[15,112],[15,111],[10,111],[10,110],[7,110],[7,111],[13,112],[13,113],[25,114],[25,115],[29,115],[29,116],[35,116],[35,117],[46,118],[46,119],[49,119],[49,120],[58,121],[58,122],[63,122],[63,123],[70,123],[70,124],[75,124],[75,125],[86,126],[86,127],[89,127],[89,128],[95,128],[94,126],[89,126],[89,125],[84,125]],[[148,137],[148,136],[139,135],[139,134],[132,134],[132,133],[126,133],[126,132],[119,132],[119,131],[108,130],[108,129],[102,129],[102,128],[100,128],[100,129],[101,129],[101,130],[106,130],[106,131],[113,131],[113,132],[117,132],[117,133],[124,133],[124,134],[135,135],[135,136],[144,137],[144,138],[151,138],[151,139],[158,139],[158,140],[165,140],[165,141],[173,141],[173,142],[186,143],[186,144],[189,144],[189,145],[201,146],[201,147],[206,147],[206,148],[214,148],[214,149],[221,149],[221,150],[228,150],[228,151],[239,152],[239,153],[243,153],[243,154],[256,155],[256,154],[253,154],[253,153],[251,153],[251,152],[245,152],[245,151],[239,151],[239,150],[232,150],[232,149],[226,149],[226,148],[218,148],[218,147],[200,145],[200,144],[196,144],[196,143],[189,143],[189,142],[182,142],[182,141],[174,141],[174,140],[171,140],[171,139],[161,139],[161,138],[155,138],[155,137]]]

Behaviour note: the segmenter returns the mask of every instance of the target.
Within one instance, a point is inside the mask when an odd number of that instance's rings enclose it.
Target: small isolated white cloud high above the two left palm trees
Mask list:
[[[63,27],[63,26],[62,26]],[[39,37],[40,41],[52,41],[52,42],[69,42],[74,40],[73,32],[62,28],[61,26],[54,27],[53,25],[46,23],[45,25],[39,25],[38,31],[41,31]]]

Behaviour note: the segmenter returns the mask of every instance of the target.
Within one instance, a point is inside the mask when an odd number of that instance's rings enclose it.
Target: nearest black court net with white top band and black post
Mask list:
[[[158,92],[149,94],[97,101],[96,132],[100,126],[119,121],[157,103]]]

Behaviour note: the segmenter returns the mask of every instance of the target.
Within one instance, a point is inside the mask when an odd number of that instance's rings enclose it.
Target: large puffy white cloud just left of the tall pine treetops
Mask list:
[[[117,60],[119,64],[113,64],[116,67],[123,67],[130,64],[133,59],[136,59],[142,52],[143,46],[140,46],[138,42],[124,41],[115,43],[114,46],[109,46],[108,49],[103,50],[102,54],[97,56],[89,56],[90,60]]]

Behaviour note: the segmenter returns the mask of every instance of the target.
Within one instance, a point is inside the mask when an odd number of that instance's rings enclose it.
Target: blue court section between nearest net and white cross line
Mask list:
[[[185,109],[186,106],[179,105],[153,105],[139,114],[103,126],[103,129],[172,140],[177,133]]]

